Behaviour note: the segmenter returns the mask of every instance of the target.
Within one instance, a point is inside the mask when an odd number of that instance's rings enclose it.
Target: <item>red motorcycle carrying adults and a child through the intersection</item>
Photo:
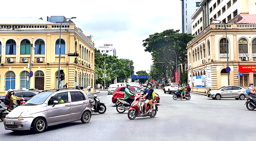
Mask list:
[[[157,111],[158,111],[158,107],[157,105],[155,105],[154,107],[152,107],[152,112],[149,113],[150,111],[150,107],[149,104],[147,105],[147,110],[146,113],[144,115],[140,115],[140,96],[135,96],[134,97],[135,100],[133,101],[133,103],[131,104],[131,108],[128,111],[128,118],[130,120],[134,120],[137,117],[141,117],[141,116],[150,116],[150,117],[155,117],[157,115]],[[155,100],[156,102],[156,100]]]

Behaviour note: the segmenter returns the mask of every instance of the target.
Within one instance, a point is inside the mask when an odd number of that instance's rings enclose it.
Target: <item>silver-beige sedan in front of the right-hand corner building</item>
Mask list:
[[[221,98],[235,98],[244,100],[245,96],[248,94],[245,93],[244,88],[239,86],[223,86],[216,90],[212,90],[207,93],[207,96],[212,99],[221,99]]]

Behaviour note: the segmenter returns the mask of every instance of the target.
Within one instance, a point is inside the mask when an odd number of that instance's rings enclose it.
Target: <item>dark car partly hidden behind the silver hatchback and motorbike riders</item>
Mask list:
[[[40,93],[40,92],[39,91],[30,91],[30,90],[17,90],[17,91],[15,91],[15,95],[18,96],[18,97],[23,97],[25,101],[28,101],[31,97],[35,96],[38,93]],[[5,96],[6,95],[0,97],[0,100],[2,102],[5,101]],[[18,102],[19,101],[17,101],[17,103]]]

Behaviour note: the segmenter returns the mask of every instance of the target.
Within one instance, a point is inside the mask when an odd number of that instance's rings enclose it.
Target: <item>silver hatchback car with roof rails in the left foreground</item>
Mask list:
[[[90,102],[80,89],[45,90],[24,105],[12,110],[4,119],[6,130],[44,132],[48,126],[91,119]]]

